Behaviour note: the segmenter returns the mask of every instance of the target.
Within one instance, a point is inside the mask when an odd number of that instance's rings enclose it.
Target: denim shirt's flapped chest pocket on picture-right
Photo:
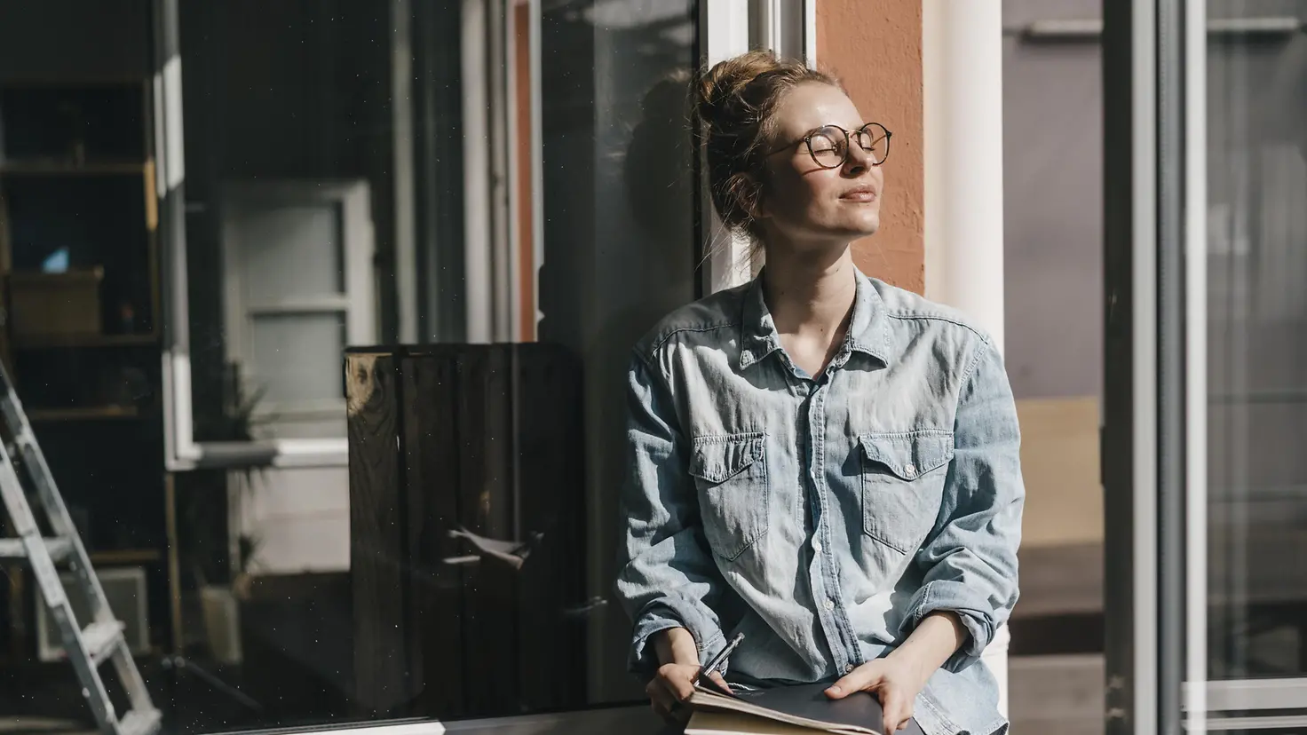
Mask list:
[[[935,526],[953,459],[953,432],[863,434],[863,532],[914,553]]]

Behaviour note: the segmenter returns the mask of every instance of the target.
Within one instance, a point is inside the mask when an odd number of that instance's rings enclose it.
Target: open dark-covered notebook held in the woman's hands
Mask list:
[[[694,689],[686,735],[882,735],[881,704],[868,692],[843,700],[826,696],[829,684],[801,684],[752,692],[727,692],[712,680]]]

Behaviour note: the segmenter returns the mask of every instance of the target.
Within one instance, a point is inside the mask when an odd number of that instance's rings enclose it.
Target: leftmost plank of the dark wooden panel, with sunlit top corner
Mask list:
[[[350,353],[345,370],[354,696],[365,711],[389,714],[409,698],[400,396],[388,354]]]

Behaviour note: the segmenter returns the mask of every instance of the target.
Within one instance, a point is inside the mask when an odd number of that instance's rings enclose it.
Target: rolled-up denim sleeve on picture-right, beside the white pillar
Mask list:
[[[983,341],[963,379],[954,421],[954,456],[944,504],[916,555],[923,586],[904,630],[950,611],[970,633],[944,668],[966,668],[993,640],[1017,603],[1017,547],[1026,490],[1021,430],[1002,357]]]

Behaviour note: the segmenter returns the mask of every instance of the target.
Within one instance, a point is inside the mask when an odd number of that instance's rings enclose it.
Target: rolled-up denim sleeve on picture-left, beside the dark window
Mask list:
[[[659,630],[689,630],[701,660],[724,645],[714,603],[725,581],[707,551],[668,382],[638,354],[629,371],[627,411],[616,591],[634,623],[627,666],[648,677],[659,666],[650,636]]]

